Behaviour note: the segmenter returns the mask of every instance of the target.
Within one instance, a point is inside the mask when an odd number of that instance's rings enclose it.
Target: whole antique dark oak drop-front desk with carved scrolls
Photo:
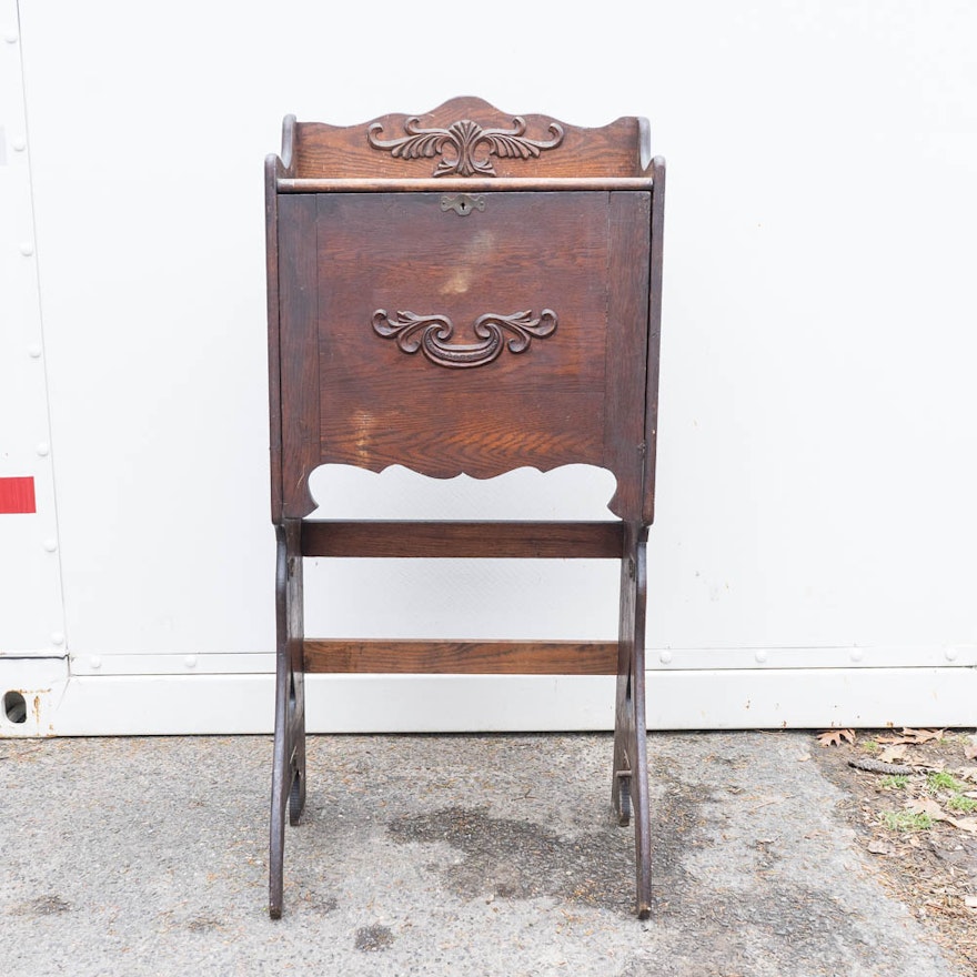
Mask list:
[[[617,676],[612,799],[651,902],[645,541],[653,518],[665,164],[643,119],[582,129],[454,99],[284,122],[265,168],[278,672],[270,913],[305,800],[309,672]],[[309,520],[324,463],[439,479],[611,471],[606,522]],[[302,560],[620,561],[614,643],[306,638]],[[370,600],[364,594],[363,600]]]

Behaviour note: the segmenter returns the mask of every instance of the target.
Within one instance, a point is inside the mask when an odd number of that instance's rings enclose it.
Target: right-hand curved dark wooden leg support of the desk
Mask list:
[[[614,810],[622,826],[634,816],[637,915],[646,919],[652,903],[652,842],[648,803],[647,724],[645,721],[645,608],[647,530],[629,525],[621,568],[621,625],[617,652],[617,704],[614,719]]]

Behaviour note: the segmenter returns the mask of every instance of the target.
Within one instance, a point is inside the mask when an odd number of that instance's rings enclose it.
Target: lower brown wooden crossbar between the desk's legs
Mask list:
[[[616,675],[617,642],[305,641],[306,672]]]

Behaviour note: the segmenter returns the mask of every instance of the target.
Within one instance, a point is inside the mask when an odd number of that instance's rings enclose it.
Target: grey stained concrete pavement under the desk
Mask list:
[[[610,736],[312,737],[273,923],[270,737],[0,741],[0,974],[958,977],[810,745],[649,737],[641,923]]]

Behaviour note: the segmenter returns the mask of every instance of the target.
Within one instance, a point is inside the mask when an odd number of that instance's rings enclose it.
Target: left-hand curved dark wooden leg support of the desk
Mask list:
[[[269,915],[282,915],[285,809],[298,824],[305,805],[305,683],[302,601],[302,524],[288,520],[275,526],[275,739],[271,785]]]

